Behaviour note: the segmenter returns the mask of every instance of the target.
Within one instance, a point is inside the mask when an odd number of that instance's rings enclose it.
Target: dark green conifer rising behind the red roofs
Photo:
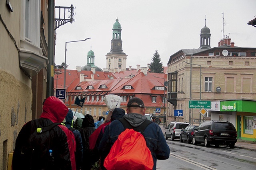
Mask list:
[[[163,63],[161,62],[160,55],[158,51],[154,53],[154,56],[152,57],[152,62],[149,65],[149,72],[156,72],[156,73],[163,73],[164,68],[163,68]]]

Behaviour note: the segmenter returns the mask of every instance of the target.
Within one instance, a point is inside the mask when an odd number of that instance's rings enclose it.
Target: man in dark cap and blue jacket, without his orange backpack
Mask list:
[[[144,116],[146,107],[140,98],[130,99],[127,104],[126,112],[127,114],[124,115],[124,119],[126,119],[126,121],[128,121],[128,123],[133,127],[138,127],[147,119]],[[120,135],[124,130],[124,126],[120,121],[112,121],[110,125],[105,128],[104,135],[100,141],[100,154],[108,154],[112,145],[118,139],[118,135]],[[164,139],[161,128],[156,123],[150,123],[144,130],[143,136],[153,157],[153,170],[156,170],[156,160],[168,159],[170,155],[170,148]]]

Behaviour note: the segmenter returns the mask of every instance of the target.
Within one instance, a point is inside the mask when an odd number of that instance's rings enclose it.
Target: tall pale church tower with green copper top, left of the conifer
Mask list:
[[[118,19],[113,25],[110,52],[106,54],[107,67],[109,72],[126,71],[126,53],[122,49],[121,24]]]

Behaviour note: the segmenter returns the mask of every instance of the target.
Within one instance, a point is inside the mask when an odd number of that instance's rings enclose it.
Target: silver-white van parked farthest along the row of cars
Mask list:
[[[164,133],[165,139],[167,140],[169,137],[172,141],[174,141],[174,139],[179,139],[181,129],[185,129],[189,125],[190,124],[187,122],[170,122],[166,127],[166,132]]]

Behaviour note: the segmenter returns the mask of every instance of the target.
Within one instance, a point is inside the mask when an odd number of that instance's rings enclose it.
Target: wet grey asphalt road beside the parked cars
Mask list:
[[[220,146],[204,147],[166,140],[170,147],[168,160],[157,160],[158,170],[253,170],[256,169],[256,152]]]

